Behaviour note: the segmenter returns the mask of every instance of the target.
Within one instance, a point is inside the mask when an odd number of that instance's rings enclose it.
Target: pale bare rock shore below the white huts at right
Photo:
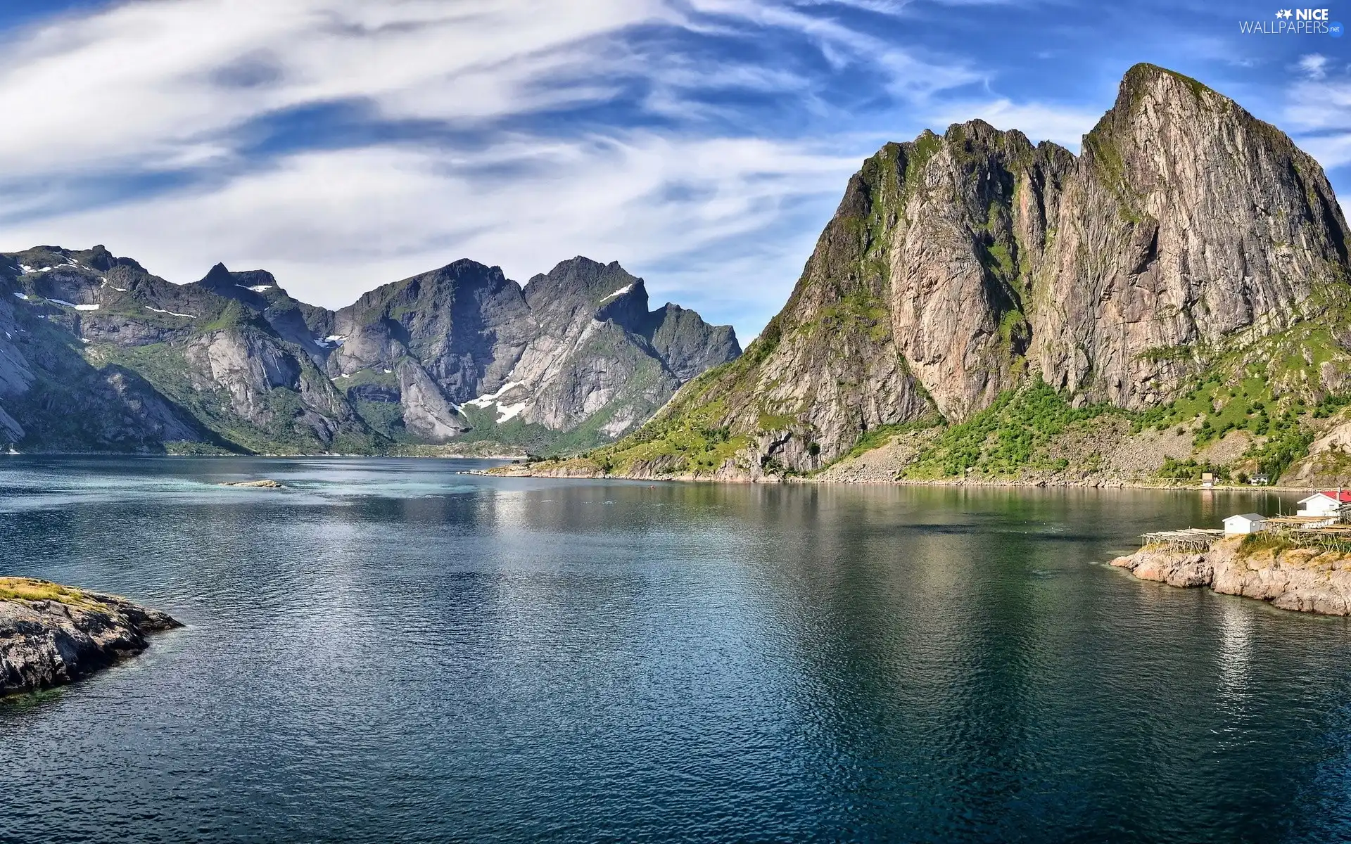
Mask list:
[[[1209,551],[1146,546],[1113,566],[1143,581],[1227,596],[1324,616],[1351,614],[1351,554],[1301,547],[1262,533],[1228,536]]]

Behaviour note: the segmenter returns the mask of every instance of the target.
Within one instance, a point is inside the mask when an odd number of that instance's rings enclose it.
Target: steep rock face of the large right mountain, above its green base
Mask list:
[[[655,440],[704,432],[719,471],[811,471],[880,427],[962,421],[1038,377],[1077,406],[1140,411],[1216,367],[1317,398],[1351,382],[1336,339],[1351,334],[1329,331],[1351,324],[1346,243],[1289,138],[1138,65],[1078,158],[979,120],[882,147],[747,354],[611,455],[643,473]],[[1315,382],[1290,354],[1321,367]]]

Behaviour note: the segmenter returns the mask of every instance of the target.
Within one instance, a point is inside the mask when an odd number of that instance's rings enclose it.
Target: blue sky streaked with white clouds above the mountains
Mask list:
[[[103,243],[336,308],[459,258],[619,261],[743,340],[889,140],[1078,151],[1135,62],[1351,196],[1351,38],[1210,0],[4,0],[0,250]],[[1351,23],[1351,5],[1328,19]]]

